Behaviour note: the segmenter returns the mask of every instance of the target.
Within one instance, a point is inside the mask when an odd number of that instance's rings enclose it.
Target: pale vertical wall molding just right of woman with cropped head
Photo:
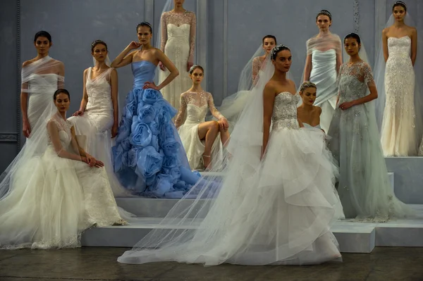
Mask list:
[[[197,17],[197,34],[195,35],[195,56],[196,63],[201,65],[205,70],[207,68],[207,54],[209,53],[208,49],[208,30],[209,30],[209,20],[207,16],[207,0],[197,0],[196,1],[196,17]],[[207,90],[207,76],[204,76],[203,83]]]

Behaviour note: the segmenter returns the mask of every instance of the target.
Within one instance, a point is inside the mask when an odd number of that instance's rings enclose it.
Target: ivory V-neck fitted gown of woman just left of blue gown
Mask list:
[[[91,78],[92,68],[88,68],[85,87],[88,102],[82,116],[68,118],[75,127],[75,135],[85,151],[104,163],[111,189],[115,197],[130,196],[130,193],[116,179],[111,163],[111,126],[114,123],[114,109],[111,101],[109,68],[104,73]]]

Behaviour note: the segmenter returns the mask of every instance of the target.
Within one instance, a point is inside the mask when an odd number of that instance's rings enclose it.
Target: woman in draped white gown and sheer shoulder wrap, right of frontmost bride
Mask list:
[[[329,11],[321,10],[317,14],[316,24],[319,34],[307,40],[302,82],[313,82],[319,89],[314,105],[321,108],[321,129],[327,132],[336,108],[336,75],[342,64],[341,39],[329,31],[332,25]]]

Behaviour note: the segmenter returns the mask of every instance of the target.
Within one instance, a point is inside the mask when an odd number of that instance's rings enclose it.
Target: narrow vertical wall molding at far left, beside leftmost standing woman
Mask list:
[[[19,132],[20,130],[20,0],[16,0],[16,132],[15,134],[15,142],[16,142],[16,148],[17,148],[17,154],[20,151],[20,138],[22,137]],[[9,134],[10,135],[10,134]],[[8,142],[1,140],[1,136],[4,136],[3,134],[0,134],[0,141],[1,142]]]

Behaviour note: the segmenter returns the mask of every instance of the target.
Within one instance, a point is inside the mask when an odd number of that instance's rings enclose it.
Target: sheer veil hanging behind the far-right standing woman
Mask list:
[[[395,19],[393,15],[388,19],[385,27],[390,27],[393,25]],[[404,23],[409,26],[416,26],[414,20],[407,12],[404,18]],[[415,65],[423,65],[422,64],[422,56],[417,54],[417,59],[415,61]],[[376,62],[374,63],[374,82],[376,82],[376,88],[378,92],[378,98],[375,101],[375,111],[376,111],[376,122],[379,127],[379,132],[381,132],[382,121],[384,118],[384,109],[386,104],[386,93],[385,93],[385,68],[386,62],[384,58],[384,45],[382,44],[382,39],[379,41],[379,51],[376,55]],[[415,126],[416,126],[416,138],[417,138],[417,145],[420,144],[422,135],[423,135],[423,123],[422,123],[422,106],[423,106],[423,98],[420,93],[420,89],[422,88],[422,80],[418,79],[417,77],[421,77],[422,73],[419,73],[419,68],[415,68]]]

